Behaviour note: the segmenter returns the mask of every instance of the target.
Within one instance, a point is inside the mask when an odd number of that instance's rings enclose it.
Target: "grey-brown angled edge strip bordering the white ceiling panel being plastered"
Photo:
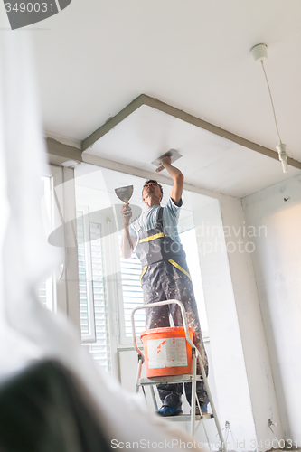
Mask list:
[[[81,142],[81,151],[83,152],[90,146],[93,146],[96,141],[106,135],[113,127],[116,127],[121,121],[127,118],[131,113],[136,111],[136,109],[141,107],[142,105],[147,105],[148,107],[155,108],[174,118],[181,119],[189,124],[193,124],[196,127],[208,130],[209,132],[212,132],[219,137],[226,138],[233,143],[237,143],[240,146],[248,147],[252,151],[259,152],[259,154],[267,155],[268,157],[274,158],[275,160],[279,160],[277,151],[273,151],[268,147],[260,146],[257,143],[253,143],[252,141],[249,141],[245,138],[234,135],[231,132],[228,132],[228,130],[224,130],[221,127],[213,126],[213,124],[209,122],[203,121],[200,118],[196,118],[193,115],[180,110],[179,108],[172,107],[171,105],[166,104],[159,99],[151,98],[146,94],[140,94],[140,96],[138,96],[130,104],[128,104],[127,107],[119,111],[116,116],[109,118],[103,126],[99,127],[97,130],[95,130],[95,132],[89,135],[89,137],[85,138]],[[301,169],[301,162],[298,162],[291,157],[287,158],[287,165]]]

